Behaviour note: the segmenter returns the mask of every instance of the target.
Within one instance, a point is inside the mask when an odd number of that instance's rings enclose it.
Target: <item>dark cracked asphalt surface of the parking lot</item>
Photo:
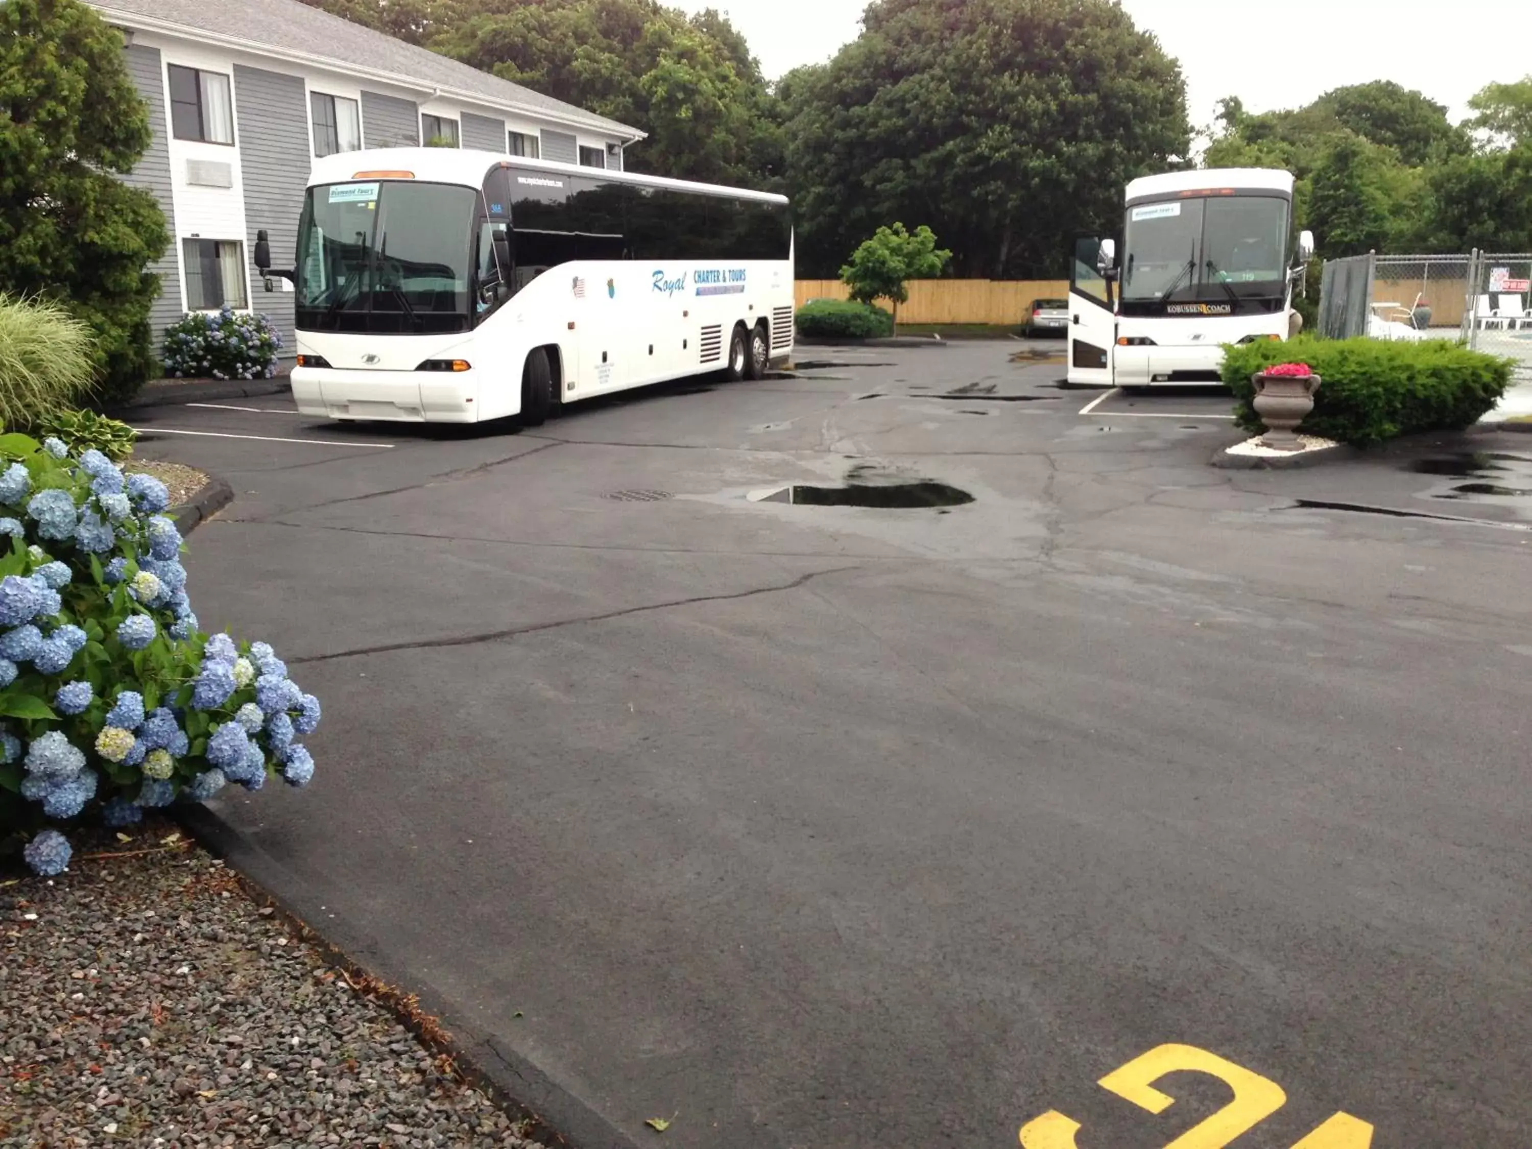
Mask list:
[[[1532,441],[1215,470],[1227,400],[1082,415],[1017,349],[527,434],[141,412],[236,492],[204,625],[325,702],[231,859],[582,1147],[1250,1124],[1174,1049],[1160,1114],[1097,1085],[1167,1045],[1279,1086],[1241,1149],[1532,1143],[1532,512],[1439,476]],[[852,467],[974,501],[749,498]]]

